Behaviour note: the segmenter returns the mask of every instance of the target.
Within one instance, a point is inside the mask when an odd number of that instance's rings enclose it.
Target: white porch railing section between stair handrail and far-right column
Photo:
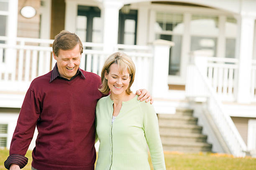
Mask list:
[[[207,77],[219,100],[236,100],[238,59],[197,56],[193,60],[200,65],[200,71]],[[197,95],[200,96],[200,92]]]

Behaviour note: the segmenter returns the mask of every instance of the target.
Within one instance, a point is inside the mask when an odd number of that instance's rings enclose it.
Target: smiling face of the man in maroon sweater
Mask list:
[[[59,56],[54,54],[54,59],[57,60],[57,66],[61,77],[70,80],[79,68],[81,54],[80,47],[77,44],[71,50],[59,50]]]

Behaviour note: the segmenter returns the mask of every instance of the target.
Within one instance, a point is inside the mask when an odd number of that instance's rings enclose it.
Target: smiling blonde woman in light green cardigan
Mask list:
[[[130,90],[134,75],[135,65],[123,52],[110,55],[102,68],[99,90],[111,93],[96,106],[96,170],[150,170],[148,148],[154,169],[165,170],[156,113]]]

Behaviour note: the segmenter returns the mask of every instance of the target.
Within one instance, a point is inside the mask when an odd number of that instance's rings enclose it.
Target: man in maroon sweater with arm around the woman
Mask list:
[[[98,90],[100,77],[79,68],[83,47],[74,33],[61,31],[52,48],[56,65],[31,82],[5,161],[7,169],[27,164],[24,155],[37,126],[33,170],[94,170],[95,107],[104,96]],[[148,96],[140,98],[149,101]]]

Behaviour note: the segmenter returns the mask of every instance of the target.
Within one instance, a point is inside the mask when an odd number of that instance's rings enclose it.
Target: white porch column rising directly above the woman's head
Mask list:
[[[103,43],[105,52],[113,52],[118,43],[119,10],[123,6],[118,0],[105,0],[101,7],[103,19]]]

